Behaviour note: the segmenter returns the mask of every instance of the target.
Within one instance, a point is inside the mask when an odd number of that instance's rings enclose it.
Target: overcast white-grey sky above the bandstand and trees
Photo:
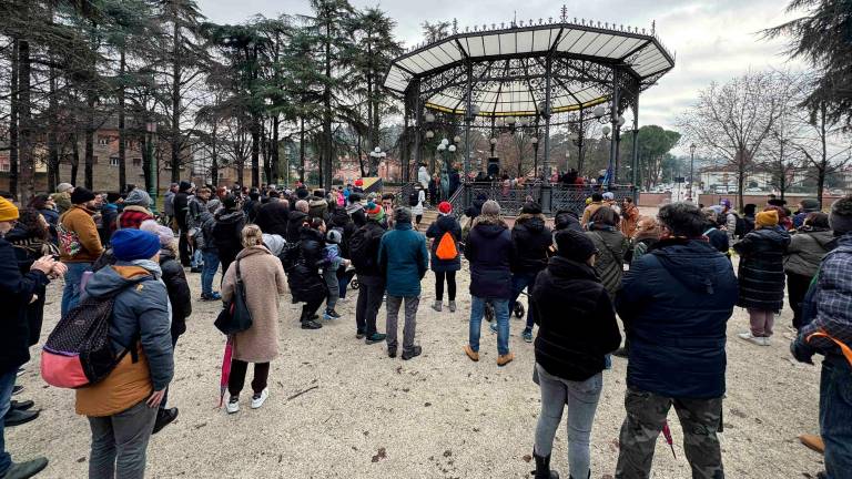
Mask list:
[[[214,22],[239,23],[255,13],[308,13],[307,0],[196,0]],[[406,45],[423,41],[423,21],[458,20],[459,27],[559,17],[561,3],[546,0],[351,0],[355,7],[378,6],[397,20],[396,34]],[[674,70],[640,101],[640,124],[672,126],[676,116],[710,82],[724,82],[751,70],[802,69],[782,54],[783,42],[768,42],[760,31],[789,18],[787,0],[574,0],[569,18],[615,22],[657,32],[676,52]]]

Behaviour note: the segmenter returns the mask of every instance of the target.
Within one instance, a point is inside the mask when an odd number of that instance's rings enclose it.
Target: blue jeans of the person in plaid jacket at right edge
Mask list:
[[[852,366],[842,356],[822,361],[820,432],[829,479],[852,477]]]

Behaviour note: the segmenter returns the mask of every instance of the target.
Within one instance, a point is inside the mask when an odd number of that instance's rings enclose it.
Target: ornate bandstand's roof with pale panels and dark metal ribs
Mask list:
[[[610,101],[615,69],[626,73],[619,83],[627,103],[673,67],[653,31],[577,19],[521,21],[417,45],[393,61],[384,85],[406,96],[418,90],[426,109],[464,115],[469,74],[479,116],[532,116],[546,104],[548,79],[548,113],[561,113]]]

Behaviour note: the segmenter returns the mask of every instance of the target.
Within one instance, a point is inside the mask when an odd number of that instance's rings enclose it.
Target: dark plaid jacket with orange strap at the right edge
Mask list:
[[[819,353],[840,359],[841,351],[834,342],[811,335],[824,332],[852,347],[852,234],[840,236],[836,247],[822,261],[813,302],[816,316],[802,327],[800,337]]]

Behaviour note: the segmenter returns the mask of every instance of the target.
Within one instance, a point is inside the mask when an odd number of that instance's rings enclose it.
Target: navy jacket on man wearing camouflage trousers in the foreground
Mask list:
[[[662,240],[635,261],[616,297],[630,340],[627,385],[673,398],[724,394],[731,262],[700,240]]]

